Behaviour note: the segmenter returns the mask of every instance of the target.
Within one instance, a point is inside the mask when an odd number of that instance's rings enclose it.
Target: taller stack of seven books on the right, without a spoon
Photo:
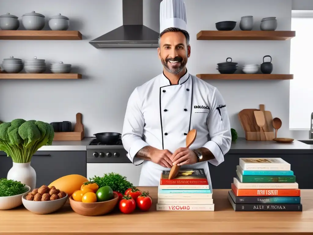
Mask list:
[[[228,200],[235,211],[302,211],[300,189],[281,158],[239,158]]]

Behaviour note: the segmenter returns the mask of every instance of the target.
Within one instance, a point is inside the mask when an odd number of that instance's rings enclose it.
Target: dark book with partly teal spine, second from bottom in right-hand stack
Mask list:
[[[300,197],[236,196],[233,190],[228,193],[236,204],[300,204],[301,201]]]

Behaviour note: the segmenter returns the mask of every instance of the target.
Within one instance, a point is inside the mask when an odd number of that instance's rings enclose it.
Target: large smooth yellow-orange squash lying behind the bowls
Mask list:
[[[81,185],[87,181],[89,180],[82,175],[65,175],[54,180],[48,186],[54,186],[55,188],[66,192],[70,197],[76,190],[80,190]]]

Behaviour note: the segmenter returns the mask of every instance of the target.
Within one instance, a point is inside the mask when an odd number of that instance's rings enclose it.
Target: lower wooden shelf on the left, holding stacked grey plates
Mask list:
[[[0,73],[0,79],[81,79],[76,73]]]

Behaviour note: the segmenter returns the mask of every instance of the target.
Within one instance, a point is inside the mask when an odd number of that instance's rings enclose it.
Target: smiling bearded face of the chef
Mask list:
[[[179,74],[185,68],[190,56],[190,45],[187,45],[182,32],[163,34],[157,50],[164,68],[172,74]]]

